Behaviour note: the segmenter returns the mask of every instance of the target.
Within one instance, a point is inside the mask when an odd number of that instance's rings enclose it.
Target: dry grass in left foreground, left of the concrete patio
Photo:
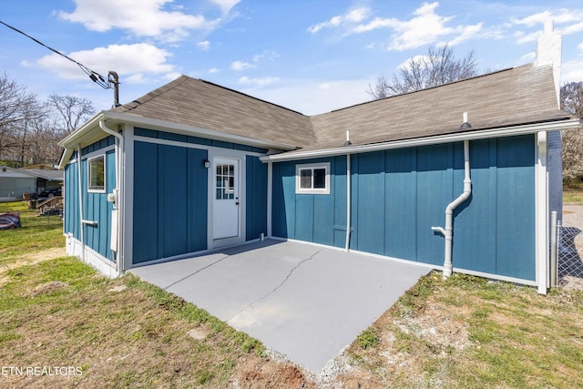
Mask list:
[[[271,361],[248,335],[132,275],[109,280],[74,258],[8,275],[0,294],[2,363],[73,366],[82,374],[2,376],[2,387],[246,388],[307,382],[291,363]],[[193,329],[205,335],[195,339]]]

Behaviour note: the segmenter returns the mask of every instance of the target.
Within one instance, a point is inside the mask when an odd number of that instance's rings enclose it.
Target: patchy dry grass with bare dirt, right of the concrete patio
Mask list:
[[[337,383],[362,387],[583,387],[583,292],[456,274],[424,277],[353,343]],[[355,386],[356,387],[356,386]]]

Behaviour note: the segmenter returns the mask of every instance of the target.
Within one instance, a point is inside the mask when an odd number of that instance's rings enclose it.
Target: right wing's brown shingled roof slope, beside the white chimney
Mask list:
[[[311,148],[342,146],[346,130],[353,145],[461,132],[464,112],[474,131],[568,118],[552,67],[526,65],[317,115]]]

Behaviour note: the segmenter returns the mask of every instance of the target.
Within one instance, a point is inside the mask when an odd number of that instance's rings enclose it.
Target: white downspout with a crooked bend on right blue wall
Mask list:
[[[464,113],[464,124],[467,125],[467,113]],[[431,230],[439,231],[445,238],[445,255],[444,255],[444,278],[452,275],[454,264],[452,262],[452,247],[454,242],[454,210],[458,205],[463,203],[472,193],[472,180],[470,179],[470,146],[469,141],[464,140],[464,191],[457,199],[447,204],[445,207],[445,229],[441,227],[432,227]]]

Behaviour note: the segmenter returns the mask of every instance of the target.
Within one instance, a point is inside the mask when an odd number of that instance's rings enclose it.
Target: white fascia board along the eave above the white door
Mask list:
[[[213,129],[198,128],[187,126],[169,121],[158,120],[153,118],[144,118],[142,116],[119,113],[119,112],[104,112],[105,120],[111,120],[118,123],[129,123],[134,127],[144,127],[154,130],[171,130],[172,132],[190,137],[211,138],[214,140],[222,140],[226,142],[239,143],[248,146],[259,148],[280,148],[283,150],[294,150],[297,147],[280,142],[273,142],[259,138],[243,137],[240,135],[228,134],[225,132],[215,131]]]

